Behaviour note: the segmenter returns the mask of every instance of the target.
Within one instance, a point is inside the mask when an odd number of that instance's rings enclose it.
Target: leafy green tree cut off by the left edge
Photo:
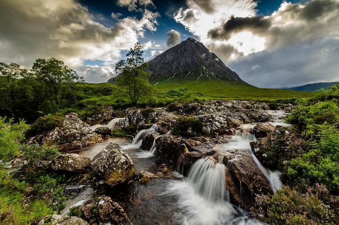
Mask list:
[[[15,105],[22,93],[20,79],[25,77],[27,69],[21,68],[19,64],[0,63],[0,102],[1,109],[5,109],[15,118]]]

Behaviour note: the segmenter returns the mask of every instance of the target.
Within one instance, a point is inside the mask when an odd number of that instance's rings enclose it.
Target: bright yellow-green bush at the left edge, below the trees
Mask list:
[[[28,126],[24,121],[13,123],[12,119],[6,122],[6,117],[0,117],[0,160],[10,161],[19,155],[21,143],[25,139]]]

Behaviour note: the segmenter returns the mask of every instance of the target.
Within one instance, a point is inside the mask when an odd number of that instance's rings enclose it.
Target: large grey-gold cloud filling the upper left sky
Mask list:
[[[156,30],[158,16],[145,9],[141,18],[125,17],[108,28],[76,0],[1,0],[0,52],[6,54],[0,54],[0,62],[31,67],[37,58],[55,57],[81,72],[85,60],[100,60],[108,71],[122,50],[133,47],[146,30]]]

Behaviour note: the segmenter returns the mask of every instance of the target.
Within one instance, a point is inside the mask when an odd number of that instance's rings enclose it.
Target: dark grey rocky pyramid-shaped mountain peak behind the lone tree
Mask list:
[[[216,54],[192,37],[169,48],[148,63],[152,83],[177,80],[180,84],[183,80],[224,80],[247,84]],[[111,78],[108,82],[115,80]]]

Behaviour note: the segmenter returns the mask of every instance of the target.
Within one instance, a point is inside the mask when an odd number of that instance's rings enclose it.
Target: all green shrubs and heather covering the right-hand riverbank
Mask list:
[[[254,212],[269,224],[339,224],[339,86],[300,99],[286,120],[310,147],[285,164],[289,187],[257,196]]]

